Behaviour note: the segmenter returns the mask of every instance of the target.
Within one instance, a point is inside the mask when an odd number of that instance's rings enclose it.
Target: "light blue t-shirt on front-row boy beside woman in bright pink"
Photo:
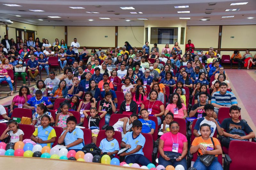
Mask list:
[[[144,144],[146,142],[146,139],[145,137],[140,133],[139,136],[137,136],[136,138],[133,138],[133,132],[127,132],[125,135],[124,135],[124,138],[122,139],[122,141],[125,143],[125,144],[129,144],[131,145],[131,148],[128,149],[126,151],[126,153],[128,152],[131,152],[133,149],[135,149],[137,147],[137,145],[140,145],[142,146],[141,149],[136,152],[136,153],[133,153],[133,154],[141,154],[141,155],[144,155],[144,153],[142,152],[142,148],[144,147]]]

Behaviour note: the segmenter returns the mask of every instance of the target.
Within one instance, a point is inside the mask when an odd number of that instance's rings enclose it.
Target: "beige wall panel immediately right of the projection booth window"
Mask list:
[[[219,26],[187,26],[186,44],[189,39],[196,48],[218,48]]]

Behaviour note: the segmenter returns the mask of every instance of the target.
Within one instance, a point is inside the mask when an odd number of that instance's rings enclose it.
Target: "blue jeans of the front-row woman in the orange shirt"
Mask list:
[[[200,161],[200,157],[198,156],[193,167],[200,170],[223,170],[217,157],[215,157],[212,164],[207,167]]]

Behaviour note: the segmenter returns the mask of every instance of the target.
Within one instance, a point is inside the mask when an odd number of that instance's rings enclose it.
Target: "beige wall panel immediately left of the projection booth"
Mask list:
[[[124,46],[125,41],[132,47],[141,48],[144,45],[144,26],[118,26],[117,46]]]

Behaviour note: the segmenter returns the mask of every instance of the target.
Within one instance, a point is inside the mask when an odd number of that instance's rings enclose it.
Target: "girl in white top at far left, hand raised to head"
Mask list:
[[[23,140],[23,135],[24,132],[22,130],[19,129],[18,123],[15,122],[15,120],[10,120],[7,123],[8,127],[5,129],[5,131],[3,132],[3,134],[0,136],[0,140],[3,140],[5,138],[7,138],[8,136],[10,136],[10,141],[12,143],[16,143],[18,141],[22,141]]]

